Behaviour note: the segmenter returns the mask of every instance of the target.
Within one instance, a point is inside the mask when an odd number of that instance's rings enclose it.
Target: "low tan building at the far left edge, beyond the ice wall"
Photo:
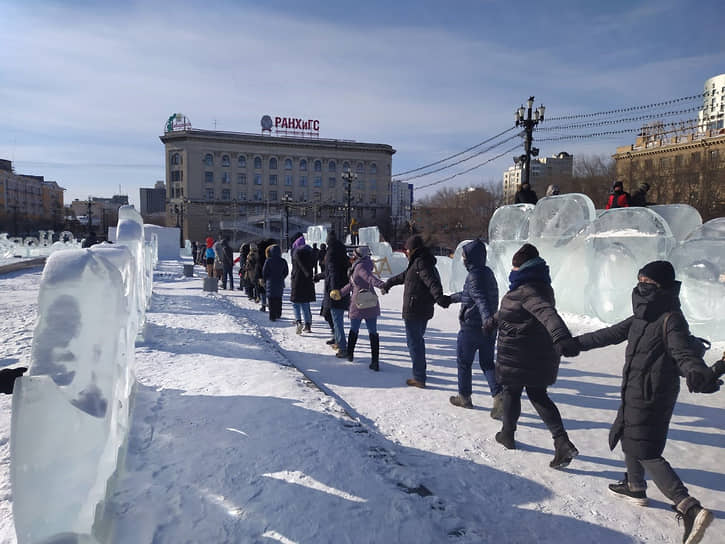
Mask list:
[[[62,229],[63,191],[43,176],[16,174],[11,161],[0,159],[0,230]]]

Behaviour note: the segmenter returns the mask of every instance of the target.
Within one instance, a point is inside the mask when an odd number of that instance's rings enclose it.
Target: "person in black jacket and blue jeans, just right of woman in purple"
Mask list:
[[[381,288],[383,293],[394,285],[403,284],[403,321],[408,352],[413,362],[413,377],[406,380],[412,387],[425,387],[425,329],[433,317],[433,307],[437,303],[443,308],[451,304],[451,297],[443,294],[441,279],[435,267],[436,258],[423,242],[419,234],[408,238],[405,243],[408,254],[408,268],[388,278]]]

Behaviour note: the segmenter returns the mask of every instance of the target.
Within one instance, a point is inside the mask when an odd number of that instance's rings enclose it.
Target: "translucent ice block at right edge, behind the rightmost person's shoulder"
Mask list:
[[[680,301],[695,334],[725,339],[725,217],[692,232],[669,257],[682,282]]]

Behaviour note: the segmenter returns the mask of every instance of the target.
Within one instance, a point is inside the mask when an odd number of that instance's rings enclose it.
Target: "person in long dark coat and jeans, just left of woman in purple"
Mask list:
[[[337,239],[334,231],[327,235],[327,253],[325,254],[325,296],[322,304],[326,306],[332,317],[337,344],[336,356],[347,359],[347,338],[345,337],[345,311],[350,304],[350,295],[340,300],[330,298],[330,292],[340,290],[348,282],[347,269],[350,268],[350,259],[347,256],[345,245]]]

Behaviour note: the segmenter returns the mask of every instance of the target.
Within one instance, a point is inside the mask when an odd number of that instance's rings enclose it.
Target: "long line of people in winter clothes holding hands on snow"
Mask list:
[[[615,184],[615,200],[621,184]],[[646,190],[644,190],[646,192]],[[617,204],[621,205],[621,204]],[[621,404],[610,437],[610,448],[621,443],[626,472],[623,480],[610,484],[609,491],[631,503],[647,504],[645,473],[673,502],[678,519],[684,520],[683,542],[698,542],[713,519],[712,512],[689,495],[687,488],[662,457],[670,419],[680,388],[686,379],[691,392],[714,393],[723,383],[725,356],[712,367],[703,359],[704,350],[690,335],[680,310],[679,282],[667,261],[645,265],[632,292],[632,316],[611,327],[574,337],[556,311],[549,267],[536,247],[524,244],[513,256],[509,290],[501,299],[496,279],[486,265],[486,245],[473,240],[463,247],[468,271],[463,289],[445,294],[436,269],[436,259],[420,235],[405,244],[408,265],[405,271],[382,280],[375,274],[366,246],[347,248],[331,232],[320,249],[310,247],[302,233],[291,239],[291,273],[273,240],[244,244],[240,249],[240,289],[269,304],[269,319],[281,316],[285,278],[291,280],[292,306],[296,333],[311,331],[310,303],[316,299],[315,282],[324,281],[320,314],[330,329],[327,341],[338,358],[354,360],[362,322],[368,331],[371,360],[369,368],[380,370],[380,336],[377,319],[380,303],[376,289],[387,294],[403,285],[402,318],[412,366],[406,380],[411,387],[426,387],[425,332],[435,305],[447,308],[460,304],[456,360],[458,394],[450,403],[473,408],[472,366],[478,354],[479,365],[493,398],[490,415],[501,421],[495,439],[506,449],[516,448],[516,426],[521,415],[521,396],[527,397],[551,433],[554,442],[552,468],[568,466],[579,454],[566,432],[562,415],[548,395],[556,382],[561,357],[627,342],[622,377]],[[207,239],[205,262],[211,273],[222,270],[224,284],[228,243]],[[211,252],[222,254],[221,266]],[[319,265],[319,272],[317,271]],[[219,277],[219,276],[217,276]],[[243,287],[242,287],[243,285]],[[345,333],[345,313],[349,328]]]

